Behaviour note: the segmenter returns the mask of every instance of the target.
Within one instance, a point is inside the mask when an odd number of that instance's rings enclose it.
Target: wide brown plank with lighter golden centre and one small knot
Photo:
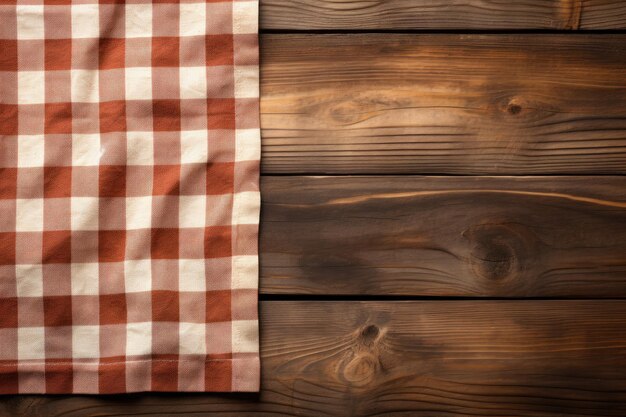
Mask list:
[[[626,173],[626,35],[265,35],[265,173]]]

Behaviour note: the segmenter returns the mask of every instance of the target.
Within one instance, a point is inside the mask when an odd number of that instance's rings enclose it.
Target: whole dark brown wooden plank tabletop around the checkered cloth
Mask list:
[[[261,27],[261,393],[0,415],[626,415],[626,2],[261,0]]]

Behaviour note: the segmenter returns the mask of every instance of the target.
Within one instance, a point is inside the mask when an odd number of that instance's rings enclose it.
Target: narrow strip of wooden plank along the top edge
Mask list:
[[[261,0],[274,30],[623,29],[622,0]]]

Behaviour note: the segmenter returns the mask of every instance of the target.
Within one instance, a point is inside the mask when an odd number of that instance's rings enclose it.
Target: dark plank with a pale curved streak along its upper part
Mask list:
[[[626,297],[626,177],[265,177],[265,294]]]

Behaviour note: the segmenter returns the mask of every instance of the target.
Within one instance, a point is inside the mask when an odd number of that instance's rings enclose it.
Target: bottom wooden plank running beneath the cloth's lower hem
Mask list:
[[[626,302],[263,302],[261,317],[259,396],[14,396],[0,415],[626,414]]]

